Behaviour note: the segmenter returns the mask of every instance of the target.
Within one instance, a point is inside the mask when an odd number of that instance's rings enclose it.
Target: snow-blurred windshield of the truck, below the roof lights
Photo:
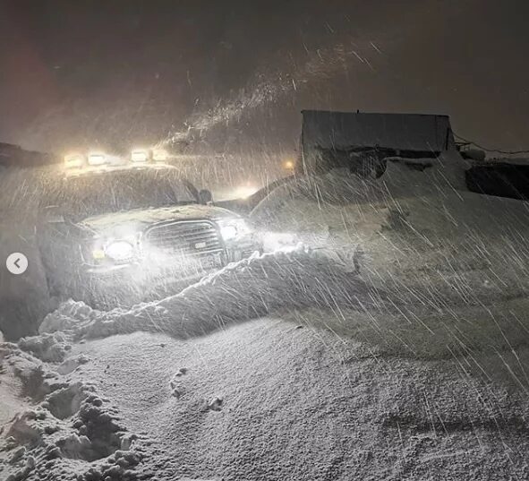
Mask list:
[[[121,210],[148,209],[195,203],[192,185],[163,171],[124,171],[72,177],[44,200],[42,207],[57,207],[84,219]]]

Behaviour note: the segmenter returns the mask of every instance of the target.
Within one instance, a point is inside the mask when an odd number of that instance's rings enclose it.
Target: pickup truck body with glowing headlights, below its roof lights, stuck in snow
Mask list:
[[[260,249],[246,220],[168,165],[80,169],[47,189],[41,211],[49,295],[96,307],[175,292]]]

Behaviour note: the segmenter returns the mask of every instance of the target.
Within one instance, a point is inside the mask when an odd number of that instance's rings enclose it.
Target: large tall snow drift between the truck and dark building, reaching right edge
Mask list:
[[[377,181],[344,171],[298,179],[270,193],[252,220],[294,243],[333,251],[371,286],[403,296],[416,297],[410,289],[462,303],[524,296],[527,204],[455,188],[457,168],[390,162]]]

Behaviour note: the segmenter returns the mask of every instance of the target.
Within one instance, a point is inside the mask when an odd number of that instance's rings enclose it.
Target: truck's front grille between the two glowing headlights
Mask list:
[[[200,255],[223,250],[218,229],[207,220],[160,224],[149,228],[144,240],[149,247],[175,255]]]

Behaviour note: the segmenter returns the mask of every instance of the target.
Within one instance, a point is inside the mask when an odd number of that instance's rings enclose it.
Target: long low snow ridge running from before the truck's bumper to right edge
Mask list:
[[[130,310],[102,313],[65,303],[47,315],[40,331],[44,340],[50,333],[59,339],[92,339],[133,331],[190,339],[278,315],[383,345],[399,356],[451,357],[527,345],[529,299],[512,288],[483,285],[482,271],[465,271],[464,265],[451,275],[439,272],[442,282],[408,272],[377,284],[350,267],[332,250],[298,247],[255,255],[182,293]]]

